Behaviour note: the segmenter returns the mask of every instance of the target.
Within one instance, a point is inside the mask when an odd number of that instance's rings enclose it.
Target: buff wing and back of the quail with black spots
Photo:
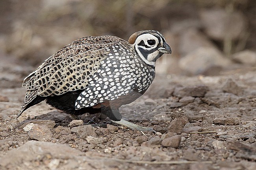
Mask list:
[[[22,86],[45,97],[84,89],[108,56],[106,48],[119,42],[128,43],[113,36],[80,38],[45,60],[24,79]]]

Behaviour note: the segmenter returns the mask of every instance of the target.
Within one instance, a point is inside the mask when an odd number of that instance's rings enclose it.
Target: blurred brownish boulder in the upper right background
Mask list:
[[[246,26],[245,17],[237,11],[206,9],[200,12],[200,18],[207,35],[215,40],[237,39]]]

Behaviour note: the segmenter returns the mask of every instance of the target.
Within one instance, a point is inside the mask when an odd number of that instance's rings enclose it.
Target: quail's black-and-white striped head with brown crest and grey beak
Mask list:
[[[171,54],[172,52],[163,35],[155,30],[138,31],[131,35],[128,42],[137,55],[150,66],[155,66],[156,60],[163,53]]]

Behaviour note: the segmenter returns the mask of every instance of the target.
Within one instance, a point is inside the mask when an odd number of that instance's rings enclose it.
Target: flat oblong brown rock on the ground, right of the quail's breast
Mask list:
[[[208,87],[205,85],[187,86],[187,87],[178,86],[174,89],[173,95],[176,97],[185,97],[185,96],[204,97],[207,91],[208,91]]]

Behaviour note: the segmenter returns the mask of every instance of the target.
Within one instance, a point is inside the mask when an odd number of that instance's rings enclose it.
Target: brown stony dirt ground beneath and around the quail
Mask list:
[[[15,120],[30,71],[2,60],[2,170],[255,170],[255,68],[213,77],[157,75],[143,97],[120,108],[124,118],[157,133],[98,114],[72,121],[45,102]],[[89,121],[100,127],[83,124]]]

